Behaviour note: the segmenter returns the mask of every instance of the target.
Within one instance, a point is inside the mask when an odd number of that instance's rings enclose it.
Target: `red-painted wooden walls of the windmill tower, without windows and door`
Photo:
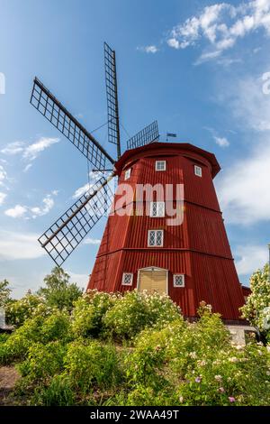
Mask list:
[[[157,160],[166,160],[166,171],[155,170]],[[195,164],[202,167],[202,178],[194,174]],[[130,179],[124,181],[129,168]],[[134,188],[183,183],[184,222],[166,226],[166,217],[109,217],[88,288],[131,290],[137,287],[138,270],[155,266],[168,270],[168,294],[185,316],[194,317],[205,300],[223,318],[238,319],[244,296],[212,182],[220,171],[214,155],[187,143],[151,143],[125,152],[116,169],[119,182]],[[148,229],[155,228],[164,229],[164,245],[149,248]],[[132,287],[121,285],[123,272],[134,274]],[[184,273],[184,288],[173,287],[174,273]]]

